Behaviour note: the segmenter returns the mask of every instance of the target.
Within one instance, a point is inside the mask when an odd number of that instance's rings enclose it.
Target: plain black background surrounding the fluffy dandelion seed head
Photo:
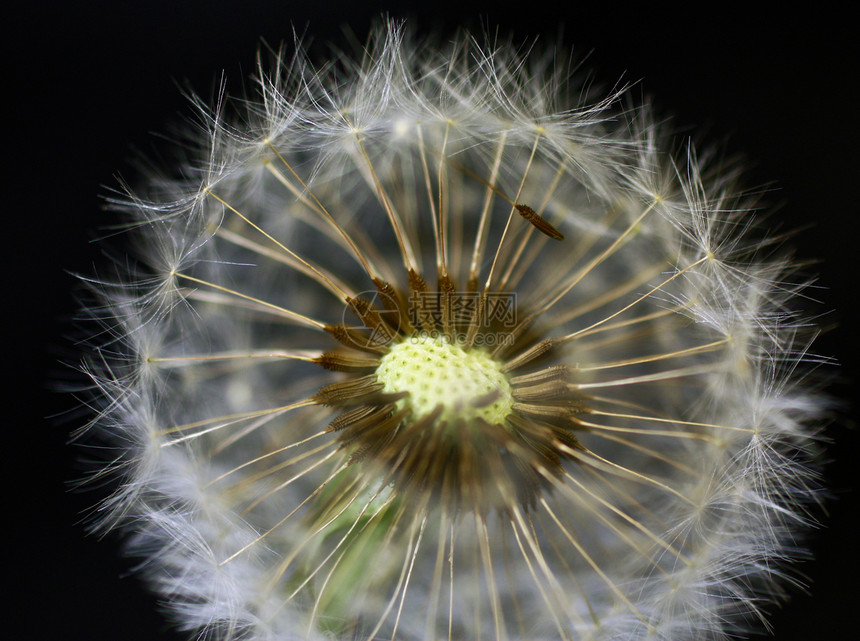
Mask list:
[[[67,272],[88,274],[104,264],[99,245],[90,242],[114,222],[100,196],[119,174],[133,182],[134,150],[152,155],[163,148],[153,132],[189,113],[180,85],[208,96],[223,71],[229,92],[241,94],[259,38],[278,44],[291,40],[293,25],[299,31],[309,25],[316,41],[345,44],[344,25],[363,38],[384,10],[409,16],[419,32],[499,25],[522,42],[539,35],[551,43],[561,35],[580,56],[591,52],[585,66],[601,82],[641,80],[634,91],[653,95],[659,114],[674,114],[679,140],[694,135],[742,153],[750,166],[746,184],[772,185],[767,200],[779,209],[770,223],[803,227],[793,241],[799,256],[822,259],[814,266],[822,287],[811,292],[821,303],[810,309],[835,311],[822,318],[828,331],[816,351],[841,361],[832,393],[846,409],[827,432],[834,443],[826,467],[833,497],[821,514],[826,527],[812,535],[814,560],[798,568],[809,594],[795,591],[787,605],[773,608],[771,621],[780,640],[854,636],[843,627],[856,627],[860,602],[852,489],[860,447],[848,409],[860,329],[860,65],[853,22],[821,3],[771,12],[721,3],[704,5],[710,11],[605,4],[565,3],[559,11],[538,0],[511,9],[436,2],[404,11],[331,0],[148,0],[5,10],[0,136],[9,148],[2,158],[0,248],[8,319],[4,388],[11,396],[0,414],[6,445],[0,456],[9,476],[0,527],[10,535],[3,546],[13,599],[4,599],[10,638],[186,638],[167,627],[155,598],[127,576],[132,562],[120,556],[116,539],[85,535],[82,515],[94,495],[68,491],[77,472],[67,435],[81,419],[63,420],[74,402],[51,389],[51,381],[68,377],[60,363],[77,360],[67,339],[77,307]]]

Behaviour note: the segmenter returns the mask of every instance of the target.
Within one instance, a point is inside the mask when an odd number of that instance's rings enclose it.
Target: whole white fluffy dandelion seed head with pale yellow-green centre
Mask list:
[[[98,284],[86,433],[182,628],[721,639],[782,595],[802,285],[734,169],[550,60],[281,54],[117,202],[142,258]]]

